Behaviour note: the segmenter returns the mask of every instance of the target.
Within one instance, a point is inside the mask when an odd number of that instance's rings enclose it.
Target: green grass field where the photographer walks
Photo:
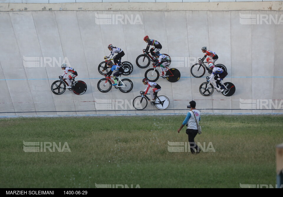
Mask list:
[[[283,116],[202,116],[201,145],[214,151],[169,152],[187,142],[185,116],[0,119],[1,188],[239,188],[276,184]],[[71,152],[24,152],[25,142],[68,143]],[[40,149],[42,150],[42,149]]]

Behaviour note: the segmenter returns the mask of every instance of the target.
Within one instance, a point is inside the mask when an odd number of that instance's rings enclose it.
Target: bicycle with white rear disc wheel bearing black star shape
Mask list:
[[[154,94],[154,101],[151,101],[150,104],[152,106],[155,106],[157,109],[164,110],[167,109],[167,107],[170,104],[170,100],[167,96],[157,96],[158,92],[153,93]],[[144,91],[140,91],[140,94],[144,94]],[[150,101],[147,95],[143,96],[137,96],[133,100],[133,106],[136,110],[143,110],[147,107],[147,103]]]

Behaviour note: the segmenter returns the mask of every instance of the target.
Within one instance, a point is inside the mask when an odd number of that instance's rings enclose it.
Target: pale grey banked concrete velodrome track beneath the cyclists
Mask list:
[[[277,15],[278,22],[281,13],[0,11],[0,117],[183,114],[192,99],[204,113],[282,114],[283,19],[282,24],[269,19],[266,24],[262,18],[256,24],[243,24],[246,19],[240,15],[274,16],[274,19]],[[97,14],[110,15],[111,24],[99,24],[98,16],[102,15]],[[118,15],[133,16],[136,23],[119,21],[115,18]],[[157,81],[162,87],[159,95],[170,99],[170,106],[164,111],[150,105],[136,111],[130,105],[139,91],[145,89],[141,80],[152,67],[141,69],[135,64],[146,47],[145,35],[162,44],[160,52],[173,59],[170,67],[181,72],[176,83],[162,78]],[[134,65],[133,73],[125,76],[134,83],[129,93],[114,88],[101,93],[97,89],[98,80],[103,78],[97,67],[109,54],[108,44],[121,47],[126,54],[122,60]],[[236,86],[233,96],[216,91],[209,97],[199,93],[200,84],[210,74],[206,71],[204,77],[194,78],[190,67],[198,57],[203,57],[203,46],[218,54],[216,63],[226,65],[228,76],[224,82]],[[68,90],[62,95],[51,92],[51,84],[63,73],[60,64],[64,58],[78,71],[76,79],[86,82],[85,94],[75,95]]]

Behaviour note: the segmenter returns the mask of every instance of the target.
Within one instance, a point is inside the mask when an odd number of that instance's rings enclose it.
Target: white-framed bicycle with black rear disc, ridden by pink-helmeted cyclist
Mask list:
[[[207,76],[206,79],[209,79],[209,77]],[[211,94],[213,94],[214,89],[216,89],[218,92],[221,92],[220,87],[217,88],[217,86],[213,83],[213,81],[216,80],[210,80],[209,82],[206,81],[200,84],[199,91],[201,95],[210,96]],[[235,93],[236,87],[231,82],[222,83],[222,81],[220,81],[220,84],[222,84],[225,87],[225,90],[221,92],[224,96],[232,96]]]

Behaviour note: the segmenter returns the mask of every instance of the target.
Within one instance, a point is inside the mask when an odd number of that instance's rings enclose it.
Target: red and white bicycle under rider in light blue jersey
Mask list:
[[[113,76],[105,76],[105,79],[100,79],[97,83],[97,88],[101,92],[108,92],[112,88],[112,84],[115,84],[114,80],[111,79]],[[114,86],[116,89],[123,93],[130,92],[133,89],[133,82],[130,79],[120,79],[121,77],[116,77],[118,79],[118,85]]]

